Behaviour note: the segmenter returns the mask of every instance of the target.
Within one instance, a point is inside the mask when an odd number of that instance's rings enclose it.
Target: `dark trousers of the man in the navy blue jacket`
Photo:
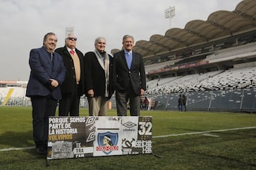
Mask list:
[[[33,140],[36,147],[47,147],[48,117],[54,116],[57,100],[51,96],[31,96],[33,118]]]

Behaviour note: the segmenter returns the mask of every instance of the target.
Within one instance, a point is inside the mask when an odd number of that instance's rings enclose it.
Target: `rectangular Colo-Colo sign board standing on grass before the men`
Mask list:
[[[151,116],[49,118],[48,160],[151,153]]]

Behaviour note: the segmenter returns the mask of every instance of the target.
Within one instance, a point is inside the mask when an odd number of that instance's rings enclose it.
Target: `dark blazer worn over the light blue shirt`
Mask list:
[[[132,65],[128,68],[124,50],[114,54],[113,84],[117,91],[127,91],[129,81],[135,94],[140,95],[140,89],[146,91],[146,74],[142,55],[132,51]]]

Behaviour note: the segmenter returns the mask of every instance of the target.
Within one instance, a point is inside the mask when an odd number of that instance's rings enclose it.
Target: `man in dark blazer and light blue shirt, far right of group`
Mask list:
[[[117,115],[139,116],[140,96],[146,91],[146,74],[142,55],[132,50],[134,38],[124,35],[124,50],[114,54],[113,84],[116,90]]]

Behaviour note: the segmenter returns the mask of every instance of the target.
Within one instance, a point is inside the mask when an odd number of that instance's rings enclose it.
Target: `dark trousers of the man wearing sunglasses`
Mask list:
[[[79,116],[80,96],[78,95],[78,89],[68,94],[62,94],[62,99],[59,105],[60,116]]]

